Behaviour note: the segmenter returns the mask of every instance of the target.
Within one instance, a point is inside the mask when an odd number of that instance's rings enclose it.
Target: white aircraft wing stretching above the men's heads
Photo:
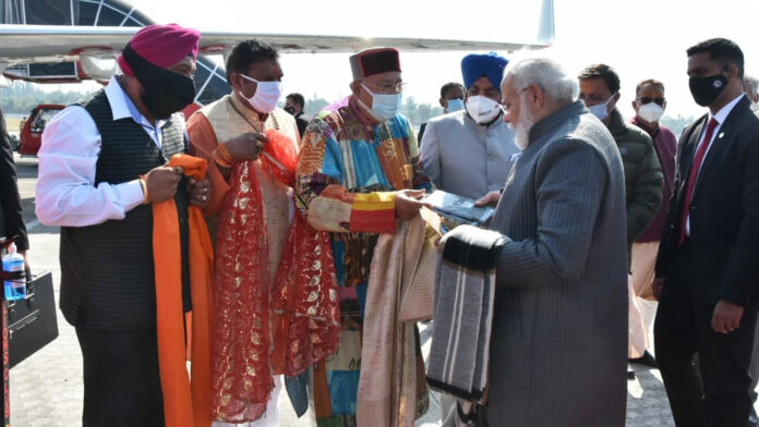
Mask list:
[[[140,27],[0,25],[0,66],[23,63],[76,61],[81,57],[115,58]],[[203,32],[201,54],[224,53],[236,44],[256,38],[282,53],[354,52],[372,46],[393,46],[402,51],[540,49],[544,42],[493,42],[455,39],[353,37]]]

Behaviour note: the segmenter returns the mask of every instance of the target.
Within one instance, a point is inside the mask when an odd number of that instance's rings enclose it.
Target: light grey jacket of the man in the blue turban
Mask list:
[[[427,122],[421,151],[424,173],[437,188],[480,198],[503,188],[519,148],[501,119],[485,126],[460,110]]]

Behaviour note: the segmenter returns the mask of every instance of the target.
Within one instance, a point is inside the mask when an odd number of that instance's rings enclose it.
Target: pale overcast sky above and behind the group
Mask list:
[[[155,22],[206,30],[492,41],[532,39],[540,10],[538,0],[126,1]],[[619,106],[625,115],[632,114],[635,85],[650,77],[666,85],[667,115],[701,114],[704,110],[688,91],[685,50],[707,38],[736,41],[746,56],[747,72],[759,74],[758,0],[555,0],[554,8],[554,46],[538,54],[557,59],[575,75],[595,62],[614,66],[622,78]],[[467,53],[401,52],[405,96],[436,103],[441,85],[461,81],[460,60]],[[348,54],[285,54],[280,62],[286,91],[300,91],[306,99],[314,94],[327,99],[348,95]]]

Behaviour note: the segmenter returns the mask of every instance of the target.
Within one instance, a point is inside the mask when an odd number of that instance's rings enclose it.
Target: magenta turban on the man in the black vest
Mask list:
[[[148,25],[138,30],[129,45],[147,62],[165,69],[181,61],[186,56],[197,58],[197,41],[201,33],[197,29],[184,28],[177,24]],[[134,75],[124,60],[119,56],[119,66],[124,74]]]

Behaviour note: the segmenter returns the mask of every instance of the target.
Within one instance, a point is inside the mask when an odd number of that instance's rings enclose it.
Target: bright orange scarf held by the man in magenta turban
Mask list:
[[[207,162],[188,155],[174,155],[170,167],[182,167],[195,180],[205,176]],[[153,204],[153,257],[156,272],[158,367],[167,427],[210,425],[210,273],[214,249],[203,213],[189,207],[189,265],[192,321],[188,341],[192,361],[192,382],[185,365],[185,326],[182,313],[182,256],[179,220],[173,198]]]

